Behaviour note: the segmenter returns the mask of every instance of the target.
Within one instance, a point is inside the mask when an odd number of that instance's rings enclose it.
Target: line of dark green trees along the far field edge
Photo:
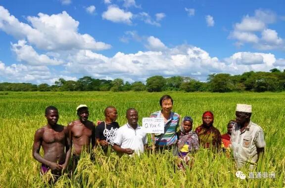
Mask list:
[[[210,91],[210,92],[232,92],[232,91],[284,91],[285,70],[272,69],[270,72],[246,72],[242,75],[211,74],[206,82],[195,80],[189,76],[163,77],[151,76],[146,83],[136,81],[124,82],[121,78],[114,80],[96,79],[84,76],[77,81],[59,78],[53,85],[42,83],[0,83],[0,91]]]

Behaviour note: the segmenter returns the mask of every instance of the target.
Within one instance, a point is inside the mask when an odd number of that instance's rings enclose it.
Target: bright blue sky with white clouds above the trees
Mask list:
[[[0,0],[0,82],[285,69],[284,0]]]

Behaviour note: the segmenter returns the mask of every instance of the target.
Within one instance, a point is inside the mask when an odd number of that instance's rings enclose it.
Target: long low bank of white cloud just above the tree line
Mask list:
[[[199,47],[179,45],[169,48],[158,38],[148,39],[152,40],[154,46],[164,49],[130,54],[117,52],[113,57],[81,50],[70,54],[65,66],[66,71],[71,75],[84,73],[96,78],[120,77],[129,81],[145,81],[153,75],[182,75],[206,80],[212,73],[237,75],[248,71],[268,72],[275,68],[276,62],[283,63],[281,60],[277,61],[273,54],[254,52],[237,52],[224,60],[219,60]]]

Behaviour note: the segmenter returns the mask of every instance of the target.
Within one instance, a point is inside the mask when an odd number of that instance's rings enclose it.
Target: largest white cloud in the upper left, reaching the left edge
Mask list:
[[[109,49],[111,45],[96,41],[88,34],[79,34],[79,22],[67,12],[28,16],[31,25],[19,22],[8,10],[0,6],[0,30],[43,50]]]

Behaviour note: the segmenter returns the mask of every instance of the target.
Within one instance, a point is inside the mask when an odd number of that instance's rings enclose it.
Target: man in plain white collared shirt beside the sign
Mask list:
[[[138,111],[134,108],[128,109],[126,117],[128,123],[118,129],[113,149],[126,154],[140,154],[146,148],[147,139],[138,125]]]

